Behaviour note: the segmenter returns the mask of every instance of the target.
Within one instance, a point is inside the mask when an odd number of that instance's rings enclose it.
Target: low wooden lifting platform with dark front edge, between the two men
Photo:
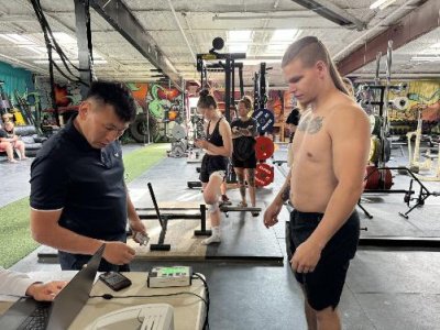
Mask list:
[[[206,246],[201,244],[208,235],[196,235],[201,230],[200,220],[185,217],[200,213],[199,201],[163,201],[158,202],[161,216],[180,213],[183,219],[173,218],[167,222],[164,243],[170,245],[169,251],[151,251],[150,245],[160,240],[162,227],[154,208],[140,208],[139,213],[150,215],[148,220],[142,220],[150,235],[147,245],[139,245],[131,238],[128,244],[135,252],[135,260],[163,261],[200,261],[200,260],[234,260],[262,261],[283,264],[283,252],[272,230],[267,230],[262,222],[262,216],[252,217],[250,212],[231,212],[229,218],[221,219],[221,244]],[[205,204],[202,204],[205,206]],[[246,208],[250,209],[250,208]],[[261,208],[255,208],[255,210]],[[209,212],[206,215],[206,228],[210,229]],[[210,233],[209,233],[210,234]],[[257,242],[257,244],[255,244]],[[57,262],[57,251],[46,248],[38,253],[40,262]]]

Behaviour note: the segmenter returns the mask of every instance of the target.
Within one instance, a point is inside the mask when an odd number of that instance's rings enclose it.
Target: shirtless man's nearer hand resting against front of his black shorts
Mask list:
[[[321,258],[322,249],[310,239],[306,240],[298,248],[290,260],[290,265],[297,273],[311,273]]]

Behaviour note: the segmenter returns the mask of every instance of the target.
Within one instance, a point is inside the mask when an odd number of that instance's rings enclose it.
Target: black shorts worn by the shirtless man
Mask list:
[[[296,248],[305,242],[318,227],[322,213],[290,213],[287,232],[287,252],[290,261]],[[312,273],[297,273],[296,279],[304,285],[307,301],[315,310],[333,309],[341,298],[350,260],[354,257],[360,235],[360,220],[354,211],[341,229],[330,239]]]

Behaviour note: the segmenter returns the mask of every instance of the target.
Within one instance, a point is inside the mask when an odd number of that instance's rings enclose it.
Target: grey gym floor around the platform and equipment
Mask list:
[[[133,147],[125,147],[129,152]],[[407,163],[406,151],[393,150],[393,158],[388,166]],[[275,160],[286,157],[280,147],[274,155]],[[271,162],[270,162],[271,163]],[[0,174],[8,172],[6,177],[10,188],[8,196],[0,195],[0,207],[29,195],[29,167],[31,161],[16,165],[0,163]],[[185,166],[185,170],[183,170]],[[197,165],[198,166],[198,165]],[[263,209],[271,202],[284,183],[285,165],[275,168],[275,182],[257,191],[257,206]],[[179,196],[200,197],[198,190],[187,189],[186,182],[197,178],[196,165],[186,164],[185,158],[165,158],[144,175],[129,185],[131,191],[144,189],[146,180],[153,183],[156,196],[164,200],[177,199]],[[277,167],[277,166],[275,166]],[[166,168],[166,172],[164,170]],[[169,170],[178,175],[170,175]],[[184,173],[184,175],[182,175]],[[409,177],[395,175],[393,188],[407,189]],[[2,182],[3,183],[3,182]],[[429,191],[440,191],[439,183],[424,183]],[[173,187],[172,189],[169,187]],[[414,186],[418,193],[418,186]],[[233,202],[238,202],[237,190],[228,191]],[[411,201],[414,204],[415,201]],[[364,195],[362,206],[373,216],[365,217],[359,209],[362,238],[396,237],[396,238],[432,238],[440,237],[440,198],[429,196],[425,206],[409,212],[409,219],[404,219],[399,211],[407,211],[402,194]],[[283,210],[287,219],[287,210]],[[437,216],[436,216],[437,215]],[[240,217],[230,215],[230,219]],[[245,221],[258,221],[262,215],[251,216]],[[237,227],[243,227],[243,221],[235,221]],[[285,228],[280,221],[274,229],[267,230],[275,234],[279,249],[285,251]],[[228,235],[223,230],[222,235]],[[243,233],[251,235],[251,233]],[[240,240],[240,237],[237,238]],[[238,249],[255,249],[261,242],[246,240],[249,246]],[[223,243],[222,243],[223,244]],[[16,263],[12,270],[21,272],[59,270],[57,264],[37,263],[38,249]],[[147,271],[156,262],[135,261],[133,271]],[[167,264],[167,263],[161,263]],[[169,262],[168,264],[175,264]],[[307,329],[302,314],[302,295],[296,284],[289,264],[285,257],[284,264],[263,261],[234,262],[228,258],[209,262],[179,262],[191,265],[196,272],[205,274],[210,289],[211,306],[209,322],[211,329]],[[440,329],[440,258],[436,248],[374,248],[360,246],[351,263],[346,285],[342,295],[341,318],[343,329]]]

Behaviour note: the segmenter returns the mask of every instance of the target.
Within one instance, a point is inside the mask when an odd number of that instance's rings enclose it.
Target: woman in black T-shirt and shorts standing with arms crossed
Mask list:
[[[233,142],[232,165],[240,186],[241,202],[239,206],[242,207],[248,206],[244,176],[249,186],[251,204],[255,207],[256,120],[248,117],[251,110],[252,100],[249,97],[242,98],[239,101],[239,118],[231,123]],[[257,212],[252,213],[254,217],[257,215]]]

